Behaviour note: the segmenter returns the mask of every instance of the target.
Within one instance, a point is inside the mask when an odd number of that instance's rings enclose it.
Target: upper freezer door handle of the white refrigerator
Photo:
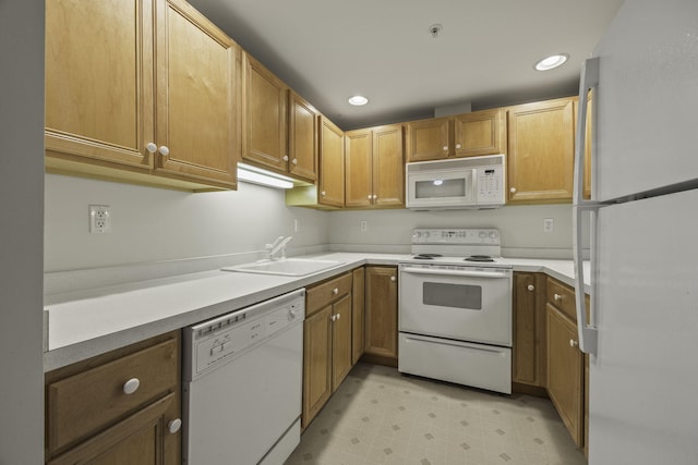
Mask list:
[[[573,204],[586,204],[583,199],[585,188],[585,150],[587,143],[587,112],[589,100],[587,93],[599,85],[599,58],[590,58],[581,63],[581,76],[579,77],[579,106],[577,111],[577,133],[575,134],[575,174]]]

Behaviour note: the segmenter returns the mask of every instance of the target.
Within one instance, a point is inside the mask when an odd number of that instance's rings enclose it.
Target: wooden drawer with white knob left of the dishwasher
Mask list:
[[[168,340],[48,384],[49,453],[174,391],[179,382],[178,344],[177,339]],[[132,379],[140,384],[127,394],[124,384]]]

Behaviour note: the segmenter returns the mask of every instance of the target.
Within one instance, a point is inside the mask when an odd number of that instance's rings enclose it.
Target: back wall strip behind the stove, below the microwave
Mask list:
[[[543,232],[543,219],[554,230]],[[368,230],[361,232],[361,221]],[[569,205],[507,206],[494,210],[374,210],[330,213],[329,240],[335,249],[409,252],[414,228],[498,228],[505,257],[571,258]]]

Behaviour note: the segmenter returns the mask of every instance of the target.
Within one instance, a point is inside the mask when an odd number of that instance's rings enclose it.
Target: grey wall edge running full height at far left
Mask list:
[[[44,1],[0,1],[0,464],[44,463]]]

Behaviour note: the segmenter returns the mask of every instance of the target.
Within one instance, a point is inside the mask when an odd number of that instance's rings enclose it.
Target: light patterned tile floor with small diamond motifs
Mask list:
[[[286,465],[585,465],[549,400],[359,364]]]

